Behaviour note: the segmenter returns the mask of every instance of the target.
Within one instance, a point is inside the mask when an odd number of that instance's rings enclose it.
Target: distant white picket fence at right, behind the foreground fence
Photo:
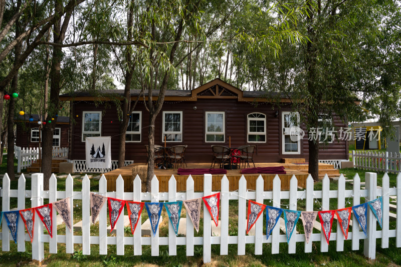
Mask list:
[[[401,172],[401,154],[352,150],[354,167],[384,172]]]

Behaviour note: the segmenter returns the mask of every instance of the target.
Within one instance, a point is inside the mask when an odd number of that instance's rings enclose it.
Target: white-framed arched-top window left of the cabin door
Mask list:
[[[266,115],[248,114],[248,142],[266,142]]]

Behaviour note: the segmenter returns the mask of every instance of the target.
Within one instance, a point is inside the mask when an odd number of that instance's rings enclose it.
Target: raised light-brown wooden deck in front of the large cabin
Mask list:
[[[135,165],[143,165],[140,163],[130,164],[128,166],[118,168],[107,173],[104,173],[107,179],[107,190],[115,191],[115,182],[119,174],[124,179],[124,191],[131,192],[133,191],[133,178],[132,168]],[[298,186],[305,187],[305,181],[308,176],[307,164],[293,164],[293,163],[255,163],[257,167],[268,167],[268,166],[284,166],[286,174],[278,174],[281,179],[281,189],[289,189],[290,179],[292,175],[295,175],[298,179]],[[187,168],[210,168],[210,163],[188,163]],[[306,171],[305,171],[306,169]],[[319,170],[322,172],[329,172],[333,169],[333,165],[331,164],[319,164]],[[326,170],[326,171],[325,171]],[[338,170],[337,170],[338,171]],[[178,175],[177,169],[154,169],[154,174],[157,176],[159,180],[159,191],[166,192],[168,191],[168,180],[171,175],[174,175],[177,180],[177,191],[185,191],[186,190],[186,179],[187,175]],[[230,191],[234,191],[238,189],[238,181],[241,176],[244,175],[247,179],[247,187],[250,190],[256,189],[256,179],[259,177],[259,174],[241,174],[239,169],[228,169],[227,170],[227,178],[230,181]],[[264,190],[272,190],[273,187],[273,179],[276,174],[261,174],[265,180]],[[212,175],[212,190],[220,191],[221,189],[221,179],[223,174]],[[142,178],[142,177],[141,177]],[[194,181],[194,190],[195,191],[203,191],[203,178],[204,175],[192,175]]]

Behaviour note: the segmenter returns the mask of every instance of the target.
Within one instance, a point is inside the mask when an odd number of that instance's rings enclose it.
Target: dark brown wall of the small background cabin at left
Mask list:
[[[16,145],[21,147],[38,147],[39,142],[31,142],[31,129],[38,128],[38,126],[37,122],[27,122],[25,125],[24,122],[17,122]],[[56,128],[60,128],[61,130],[60,147],[68,147],[69,127],[68,123],[56,124]]]

